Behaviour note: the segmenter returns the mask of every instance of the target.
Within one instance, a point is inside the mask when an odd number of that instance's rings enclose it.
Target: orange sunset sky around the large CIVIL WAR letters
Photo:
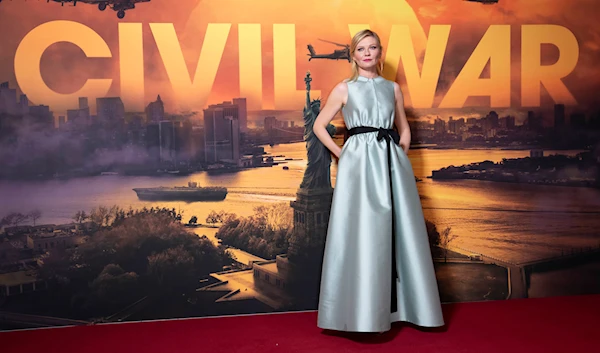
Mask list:
[[[52,20],[81,22],[100,34],[113,52],[113,58],[89,59],[73,45],[60,43],[50,47],[42,58],[42,76],[52,89],[69,93],[78,90],[85,80],[112,78],[108,95],[119,95],[118,32],[119,22],[141,22],[144,32],[145,103],[160,94],[167,108],[177,111],[177,97],[173,94],[164,63],[158,53],[149,23],[173,23],[183,53],[193,76],[202,40],[208,23],[232,23],[223,57],[217,71],[208,103],[230,100],[239,95],[238,23],[260,23],[262,38],[263,101],[265,107],[273,104],[273,23],[293,23],[296,31],[297,89],[302,89],[302,77],[307,70],[313,75],[312,87],[326,97],[332,86],[343,79],[349,69],[347,62],[327,60],[307,61],[306,44],[318,52],[329,52],[336,47],[318,41],[318,38],[349,43],[349,23],[368,23],[378,31],[387,44],[392,24],[409,24],[417,49],[426,44],[429,26],[450,24],[450,39],[440,85],[436,93],[439,104],[454,78],[473,52],[491,24],[511,24],[512,36],[512,105],[520,102],[520,27],[521,24],[557,24],[569,28],[580,46],[576,69],[563,81],[580,105],[597,103],[600,89],[600,27],[595,24],[600,10],[594,0],[500,0],[497,5],[482,5],[460,0],[152,0],[138,4],[128,11],[124,20],[118,20],[113,11],[100,12],[93,5],[76,7],[46,1],[3,1],[0,4],[0,81],[8,80],[16,86],[14,54],[19,42],[34,27]],[[19,18],[18,21],[15,19]],[[555,59],[557,53],[549,50],[543,61]],[[402,81],[402,80],[401,80]],[[551,104],[543,92],[542,103]],[[35,102],[51,104],[51,102]],[[299,102],[301,108],[302,102]],[[489,105],[489,99],[473,98],[468,105]],[[435,106],[435,105],[434,105]]]

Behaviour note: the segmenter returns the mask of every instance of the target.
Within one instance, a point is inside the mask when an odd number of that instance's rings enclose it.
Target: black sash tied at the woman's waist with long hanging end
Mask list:
[[[395,313],[398,311],[397,302],[397,289],[396,281],[398,279],[398,269],[396,268],[396,227],[395,227],[395,214],[394,214],[394,192],[392,190],[392,147],[390,146],[391,141],[394,143],[400,143],[400,135],[396,130],[375,128],[371,126],[357,126],[348,130],[348,135],[364,134],[367,132],[377,132],[377,141],[385,139],[387,143],[387,160],[388,160],[388,175],[390,179],[390,198],[392,200],[392,297],[391,297],[391,312]]]

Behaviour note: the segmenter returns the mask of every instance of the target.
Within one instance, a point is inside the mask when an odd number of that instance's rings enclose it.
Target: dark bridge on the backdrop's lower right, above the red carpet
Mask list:
[[[533,270],[552,270],[562,268],[565,265],[577,264],[600,256],[600,245],[595,247],[568,249],[561,251],[561,255],[551,256],[543,259],[527,262],[514,263],[493,256],[482,254],[478,251],[464,247],[453,246],[450,250],[464,255],[481,255],[483,263],[495,264],[508,270],[508,295],[506,299],[520,299],[528,297],[528,289]]]

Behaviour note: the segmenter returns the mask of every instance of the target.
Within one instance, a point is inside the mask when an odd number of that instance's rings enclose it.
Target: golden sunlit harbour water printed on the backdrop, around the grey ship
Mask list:
[[[303,143],[265,147],[272,155],[302,159],[282,166],[256,168],[232,174],[191,176],[123,177],[97,176],[71,180],[36,182],[0,181],[0,215],[11,211],[42,211],[42,223],[69,223],[78,210],[96,206],[119,205],[122,208],[168,207],[183,211],[184,221],[192,215],[200,222],[212,210],[224,210],[249,216],[256,206],[295,199],[302,180],[306,157]],[[546,151],[574,155],[578,151]],[[425,217],[438,230],[451,227],[458,238],[452,245],[504,259],[524,262],[560,254],[563,249],[598,246],[600,237],[600,190],[494,183],[476,180],[434,181],[431,171],[449,165],[502,158],[519,158],[529,151],[506,150],[411,150]],[[336,164],[332,164],[335,185]],[[198,181],[202,186],[221,185],[229,194],[220,202],[147,202],[139,201],[135,187],[186,185]],[[596,213],[593,213],[596,212]],[[215,229],[198,228],[214,240]]]

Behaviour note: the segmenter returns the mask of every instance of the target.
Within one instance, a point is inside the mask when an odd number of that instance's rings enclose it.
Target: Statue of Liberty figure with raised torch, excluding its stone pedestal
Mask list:
[[[331,153],[313,132],[313,124],[321,111],[321,100],[310,101],[310,72],[306,73],[306,105],[304,107],[304,141],[306,141],[306,155],[308,163],[304,171],[301,189],[331,189]],[[329,135],[335,134],[335,126],[327,126]]]

